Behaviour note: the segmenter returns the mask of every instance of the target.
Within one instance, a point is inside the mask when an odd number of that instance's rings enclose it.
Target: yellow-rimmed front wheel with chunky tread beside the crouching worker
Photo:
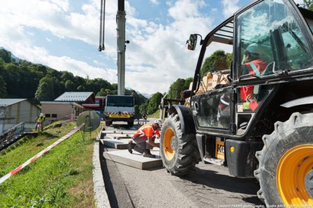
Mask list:
[[[200,156],[195,135],[182,134],[177,114],[170,115],[163,124],[160,150],[164,167],[177,176],[193,171]]]

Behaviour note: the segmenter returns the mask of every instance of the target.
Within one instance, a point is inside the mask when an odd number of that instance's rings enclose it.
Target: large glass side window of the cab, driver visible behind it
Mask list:
[[[237,22],[238,77],[260,77],[313,66],[303,31],[284,1],[264,0],[241,13]],[[310,26],[312,29],[312,21]]]

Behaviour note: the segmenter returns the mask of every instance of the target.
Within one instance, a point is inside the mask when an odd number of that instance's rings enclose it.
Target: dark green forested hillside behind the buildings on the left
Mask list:
[[[98,96],[116,95],[118,85],[101,78],[83,78],[45,65],[15,60],[10,51],[0,49],[0,98],[27,98],[39,103],[54,100],[64,92],[83,91]],[[147,100],[135,90],[126,90],[126,94],[133,94],[138,106]]]

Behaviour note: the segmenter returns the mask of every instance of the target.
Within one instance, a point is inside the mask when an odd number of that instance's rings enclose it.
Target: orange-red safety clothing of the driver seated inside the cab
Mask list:
[[[262,72],[264,72],[268,63],[266,61],[257,59],[254,61],[250,61],[249,63],[245,63],[244,65],[248,67],[249,74],[259,76]],[[246,101],[248,96],[252,95],[253,88],[254,88],[253,86],[246,86],[240,88],[241,101]]]

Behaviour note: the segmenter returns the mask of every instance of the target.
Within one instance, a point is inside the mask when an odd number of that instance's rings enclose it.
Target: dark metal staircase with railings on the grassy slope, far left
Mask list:
[[[24,134],[33,132],[35,125],[35,122],[20,122],[8,129],[0,136],[0,151],[18,141]]]

